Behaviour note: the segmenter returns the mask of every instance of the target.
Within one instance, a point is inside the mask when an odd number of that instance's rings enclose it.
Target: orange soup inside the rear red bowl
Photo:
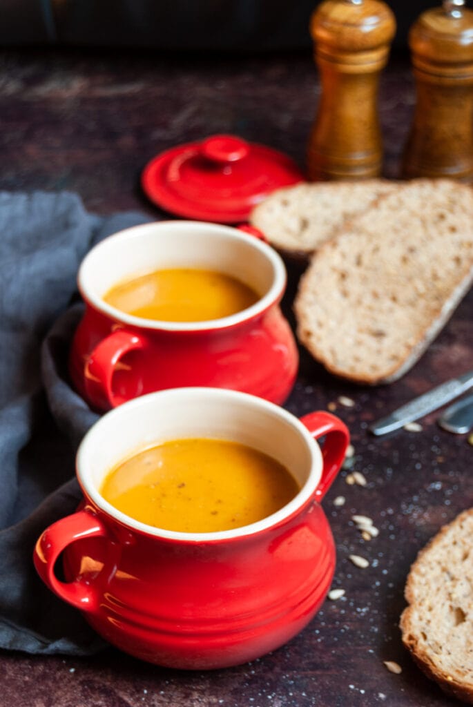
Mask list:
[[[112,287],[103,300],[144,319],[205,322],[241,312],[259,300],[234,277],[190,268],[156,270]]]

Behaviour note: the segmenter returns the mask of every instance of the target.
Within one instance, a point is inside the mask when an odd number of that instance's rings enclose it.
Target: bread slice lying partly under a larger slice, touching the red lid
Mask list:
[[[250,223],[286,255],[307,258],[347,218],[365,211],[397,182],[313,182],[272,192],[250,214]]]

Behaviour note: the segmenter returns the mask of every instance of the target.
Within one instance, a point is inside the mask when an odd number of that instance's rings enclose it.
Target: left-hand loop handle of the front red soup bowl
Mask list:
[[[49,525],[38,539],[33,552],[37,573],[50,590],[65,602],[85,612],[95,612],[100,606],[100,595],[90,580],[62,582],[54,573],[59,555],[76,540],[90,537],[109,537],[100,519],[87,510],[79,510]]]

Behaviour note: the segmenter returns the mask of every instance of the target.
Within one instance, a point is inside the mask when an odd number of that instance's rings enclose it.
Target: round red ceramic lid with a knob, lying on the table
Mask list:
[[[167,150],[144,168],[147,196],[166,211],[203,221],[245,221],[278,187],[304,179],[283,153],[233,135]]]

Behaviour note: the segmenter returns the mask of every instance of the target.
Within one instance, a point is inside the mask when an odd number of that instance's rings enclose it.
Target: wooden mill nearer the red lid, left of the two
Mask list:
[[[378,86],[395,30],[383,0],[324,0],[310,18],[322,88],[308,145],[310,180],[380,175]]]

